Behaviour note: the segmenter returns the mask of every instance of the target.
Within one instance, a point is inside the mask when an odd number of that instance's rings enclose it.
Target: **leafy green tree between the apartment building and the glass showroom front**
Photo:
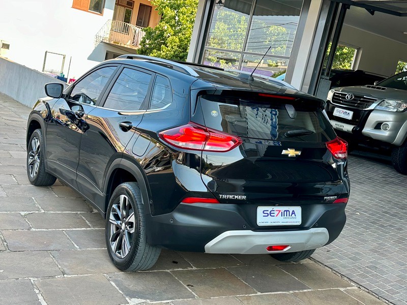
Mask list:
[[[144,29],[138,54],[173,60],[186,60],[198,0],[152,0],[161,20]]]

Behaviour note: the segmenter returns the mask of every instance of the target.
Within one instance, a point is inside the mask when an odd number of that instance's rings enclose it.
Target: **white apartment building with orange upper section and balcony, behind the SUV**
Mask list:
[[[2,56],[38,71],[79,77],[139,48],[160,16],[150,0],[19,0],[0,4]]]

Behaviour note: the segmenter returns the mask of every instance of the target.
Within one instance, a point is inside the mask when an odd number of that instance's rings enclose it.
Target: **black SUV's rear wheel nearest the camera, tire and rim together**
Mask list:
[[[125,182],[114,190],[106,211],[105,236],[110,259],[122,271],[147,270],[157,261],[161,249],[147,243],[144,206],[137,183]]]

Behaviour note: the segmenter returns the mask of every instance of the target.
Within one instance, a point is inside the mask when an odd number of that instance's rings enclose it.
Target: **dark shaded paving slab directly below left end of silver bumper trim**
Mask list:
[[[196,252],[180,252],[196,268],[219,268],[243,266],[244,264],[229,254],[208,254]]]

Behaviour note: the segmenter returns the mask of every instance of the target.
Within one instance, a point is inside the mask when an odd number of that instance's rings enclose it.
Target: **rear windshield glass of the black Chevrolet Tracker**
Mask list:
[[[240,137],[304,142],[336,137],[321,109],[297,101],[202,95],[199,104],[208,128]]]

